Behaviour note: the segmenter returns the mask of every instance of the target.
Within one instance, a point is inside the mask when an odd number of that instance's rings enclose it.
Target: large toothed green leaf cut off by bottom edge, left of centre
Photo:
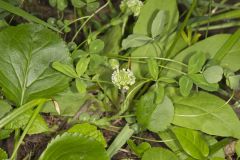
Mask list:
[[[64,133],[47,146],[39,160],[109,160],[101,143],[78,133]]]

